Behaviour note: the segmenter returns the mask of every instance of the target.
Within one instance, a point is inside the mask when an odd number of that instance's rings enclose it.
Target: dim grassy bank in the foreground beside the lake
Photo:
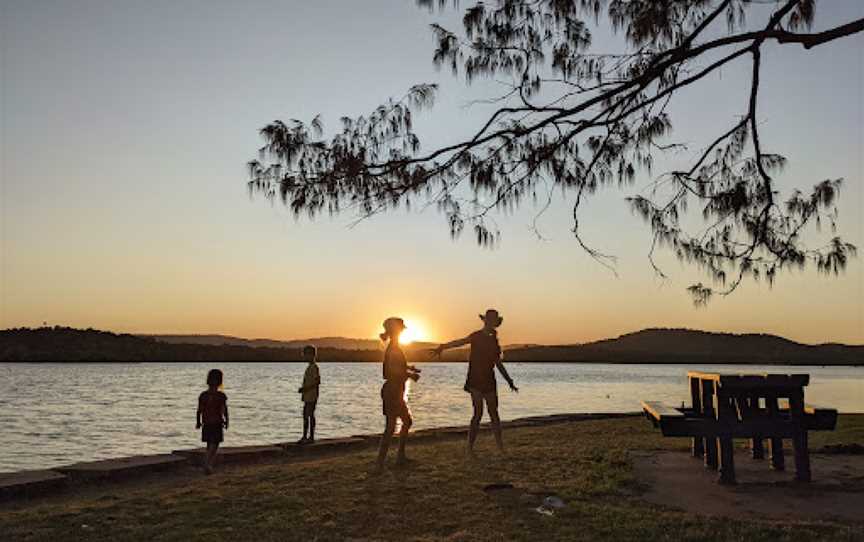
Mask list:
[[[641,501],[629,452],[688,445],[641,418],[512,429],[505,439],[499,456],[482,434],[471,461],[461,441],[417,443],[409,468],[391,464],[379,476],[369,450],[85,486],[0,504],[0,539],[864,540],[861,524],[707,519]],[[837,442],[864,443],[864,416],[842,416],[838,431],[811,437],[813,449]],[[483,492],[498,482],[568,505],[543,516]]]

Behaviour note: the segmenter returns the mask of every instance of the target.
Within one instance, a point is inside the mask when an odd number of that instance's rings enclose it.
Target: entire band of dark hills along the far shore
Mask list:
[[[186,341],[186,342],[184,342]],[[194,342],[193,342],[194,341]],[[67,327],[0,331],[0,361],[299,361],[300,347],[318,346],[321,361],[380,362],[381,343],[325,337],[292,341],[223,335],[117,334]],[[405,350],[411,361],[429,361],[428,343]],[[356,347],[356,348],[354,348]],[[444,361],[465,361],[466,349]],[[801,344],[775,335],[646,329],[585,344],[505,347],[507,361],[675,364],[864,365],[864,346]]]

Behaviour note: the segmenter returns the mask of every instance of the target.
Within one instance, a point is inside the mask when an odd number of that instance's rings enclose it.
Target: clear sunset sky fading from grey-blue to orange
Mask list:
[[[864,17],[864,3],[818,4],[816,30]],[[531,230],[530,204],[498,215],[501,242],[452,240],[434,208],[296,221],[250,198],[245,164],[274,119],[326,126],[411,85],[440,85],[415,118],[425,149],[464,137],[497,90],[467,87],[431,62],[428,25],[454,14],[407,0],[0,0],[0,327],[68,325],[138,333],[374,337],[407,318],[449,340],[497,308],[506,343],[576,343],[646,327],[775,333],[864,343],[864,270],[790,272],[745,282],[707,308],[685,288],[706,277],[669,254],[661,281],[650,232],[624,198],[680,167],[743,112],[747,66],[673,102],[669,156],[632,186],[592,197],[570,234],[572,195]],[[598,45],[603,44],[598,31]],[[760,95],[763,146],[784,154],[783,195],[843,178],[839,232],[864,244],[864,35],[805,52],[771,45]],[[822,237],[820,237],[820,235]],[[825,236],[814,233],[813,242]]]

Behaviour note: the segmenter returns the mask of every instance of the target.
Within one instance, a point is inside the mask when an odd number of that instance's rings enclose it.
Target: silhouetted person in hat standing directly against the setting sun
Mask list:
[[[390,441],[396,430],[396,419],[402,420],[402,430],[399,433],[399,455],[397,463],[405,463],[405,443],[408,439],[408,430],[414,420],[405,402],[405,382],[410,378],[415,382],[420,378],[420,370],[408,365],[405,353],[399,346],[399,336],[405,331],[405,322],[401,318],[388,318],[384,320],[384,333],[380,337],[382,341],[389,341],[384,351],[384,385],[381,386],[381,400],[384,404],[384,416],[387,424],[381,435],[381,445],[378,448],[377,468],[384,468],[384,460],[390,449]]]

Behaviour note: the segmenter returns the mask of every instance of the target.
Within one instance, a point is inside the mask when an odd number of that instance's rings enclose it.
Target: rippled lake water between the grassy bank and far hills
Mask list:
[[[415,429],[464,425],[464,364],[424,363],[410,383]],[[231,427],[225,445],[297,440],[304,364],[227,363]],[[564,412],[635,412],[641,399],[688,400],[687,370],[809,373],[806,399],[864,412],[864,368],[730,365],[507,364],[520,388],[499,378],[502,419]],[[0,363],[0,472],[55,467],[199,446],[198,394],[210,364]],[[381,367],[323,363],[317,437],[380,432]]]

